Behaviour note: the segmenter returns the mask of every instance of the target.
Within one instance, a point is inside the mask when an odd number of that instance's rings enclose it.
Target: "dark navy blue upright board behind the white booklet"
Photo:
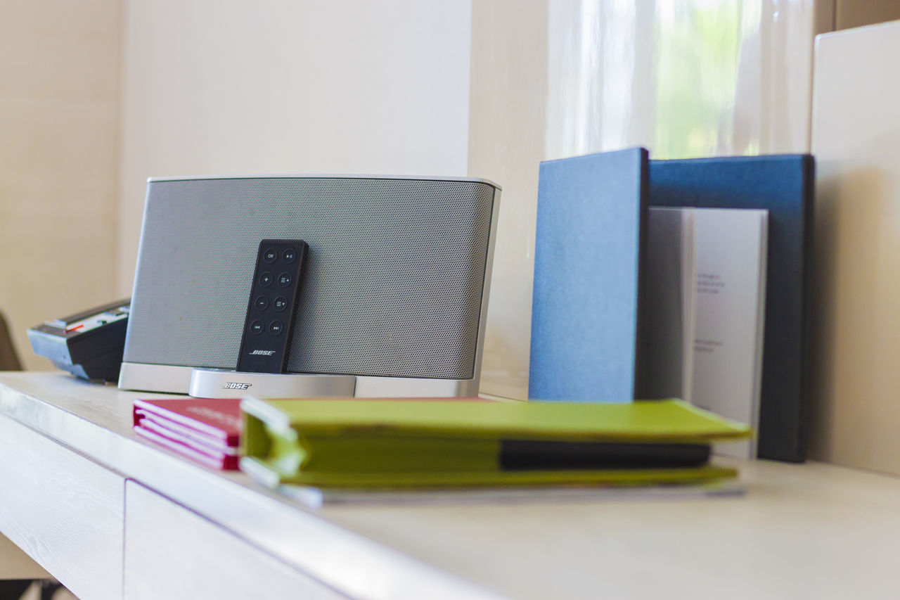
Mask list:
[[[758,456],[806,459],[808,280],[815,160],[651,160],[650,205],[769,211]]]

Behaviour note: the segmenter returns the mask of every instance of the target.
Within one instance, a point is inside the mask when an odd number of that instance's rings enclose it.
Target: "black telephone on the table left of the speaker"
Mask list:
[[[31,348],[84,379],[116,381],[125,350],[130,298],[45,321],[28,330]]]

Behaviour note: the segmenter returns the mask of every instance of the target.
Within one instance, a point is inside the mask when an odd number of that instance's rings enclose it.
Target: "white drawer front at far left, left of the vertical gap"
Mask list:
[[[121,598],[124,478],[2,415],[0,457],[0,532],[79,598]]]

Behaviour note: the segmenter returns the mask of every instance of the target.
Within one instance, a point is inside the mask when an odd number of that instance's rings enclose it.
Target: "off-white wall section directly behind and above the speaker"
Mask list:
[[[468,1],[125,6],[121,294],[147,177],[465,175]]]

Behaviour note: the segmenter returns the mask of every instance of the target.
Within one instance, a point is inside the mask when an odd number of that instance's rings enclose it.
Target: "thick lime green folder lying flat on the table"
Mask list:
[[[510,448],[656,450],[693,456],[750,429],[680,400],[628,404],[491,403],[440,400],[260,400],[245,414],[240,466],[266,484],[410,488],[647,485],[733,477],[705,457],[694,465],[635,468],[508,468]],[[635,450],[633,452],[632,450]],[[665,461],[663,461],[665,462]],[[649,464],[649,463],[648,463]],[[540,465],[540,460],[538,461]]]

